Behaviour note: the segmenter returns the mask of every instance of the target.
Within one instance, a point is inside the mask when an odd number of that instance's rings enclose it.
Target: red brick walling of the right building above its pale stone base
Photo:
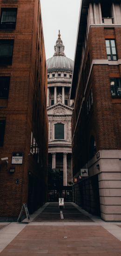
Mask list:
[[[118,59],[121,59],[121,28],[90,28],[72,119],[74,174],[89,160],[89,141],[91,135],[95,138],[97,151],[99,149],[121,149],[121,98],[112,99],[109,81],[111,77],[121,78],[121,65],[95,64],[93,66],[87,85],[85,101],[74,133],[82,97],[84,96],[84,90],[87,84],[87,80],[85,79],[85,65],[88,52],[90,66],[93,59],[107,60],[106,38],[115,38],[117,56]],[[94,103],[90,114],[87,116],[86,105],[90,88],[93,90]]]

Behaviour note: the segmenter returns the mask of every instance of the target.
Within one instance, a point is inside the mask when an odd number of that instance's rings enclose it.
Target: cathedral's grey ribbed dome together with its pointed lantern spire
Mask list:
[[[64,45],[61,40],[60,30],[56,45],[54,46],[54,56],[47,59],[47,71],[67,70],[73,71],[74,61],[67,58],[64,53]]]

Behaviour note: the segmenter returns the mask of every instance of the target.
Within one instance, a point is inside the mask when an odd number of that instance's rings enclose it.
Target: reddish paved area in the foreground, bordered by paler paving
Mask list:
[[[121,242],[101,226],[26,226],[0,256],[121,256]]]

